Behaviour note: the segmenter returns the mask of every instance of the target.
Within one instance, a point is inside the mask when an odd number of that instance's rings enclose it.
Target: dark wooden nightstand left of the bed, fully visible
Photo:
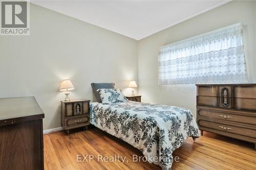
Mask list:
[[[90,125],[90,100],[61,101],[61,126],[69,135],[70,129]]]

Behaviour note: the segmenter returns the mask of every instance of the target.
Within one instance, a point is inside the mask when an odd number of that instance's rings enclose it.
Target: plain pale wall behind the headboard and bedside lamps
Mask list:
[[[30,36],[0,36],[0,98],[35,96],[44,129],[60,127],[58,91],[71,79],[71,99],[93,98],[92,82],[126,87],[138,80],[137,41],[30,4]]]

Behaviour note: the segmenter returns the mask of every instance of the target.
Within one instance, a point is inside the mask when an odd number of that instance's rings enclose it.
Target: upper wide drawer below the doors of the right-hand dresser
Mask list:
[[[256,113],[198,108],[197,115],[211,120],[225,120],[256,127]]]

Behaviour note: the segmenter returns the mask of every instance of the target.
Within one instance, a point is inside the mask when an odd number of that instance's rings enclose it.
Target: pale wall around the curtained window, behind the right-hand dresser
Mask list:
[[[143,102],[190,109],[196,115],[195,85],[158,85],[159,47],[242,22],[249,82],[256,82],[255,1],[233,1],[139,40],[139,93]]]

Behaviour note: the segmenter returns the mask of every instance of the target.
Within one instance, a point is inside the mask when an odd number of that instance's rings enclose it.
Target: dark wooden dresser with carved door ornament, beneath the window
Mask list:
[[[197,85],[197,122],[202,135],[218,133],[256,149],[256,84]]]

